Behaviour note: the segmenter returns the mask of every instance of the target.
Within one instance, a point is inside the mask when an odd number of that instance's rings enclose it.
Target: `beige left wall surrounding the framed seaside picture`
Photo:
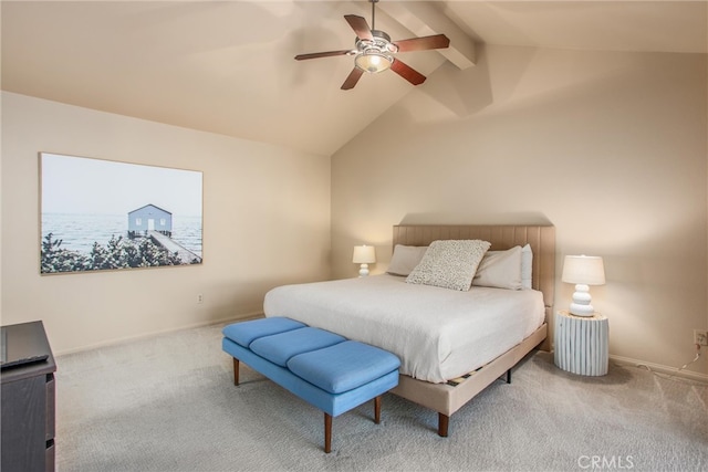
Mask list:
[[[201,170],[204,263],[40,276],[40,151]],[[258,314],[330,275],[329,157],[2,93],[1,175],[2,324],[43,319],[55,353]]]

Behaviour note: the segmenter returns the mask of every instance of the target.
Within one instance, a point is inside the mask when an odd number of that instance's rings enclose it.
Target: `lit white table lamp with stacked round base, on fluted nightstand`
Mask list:
[[[563,261],[561,280],[575,284],[573,303],[569,312],[575,316],[593,316],[595,308],[591,305],[589,285],[605,284],[605,266],[597,255],[566,255]]]

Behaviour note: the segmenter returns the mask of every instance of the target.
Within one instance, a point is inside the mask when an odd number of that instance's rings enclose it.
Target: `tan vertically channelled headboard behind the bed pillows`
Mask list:
[[[491,243],[490,250],[501,251],[514,245],[530,244],[533,251],[531,286],[543,293],[545,319],[553,319],[555,295],[555,227],[528,224],[400,224],[394,227],[393,244],[429,245],[444,239],[481,239]]]

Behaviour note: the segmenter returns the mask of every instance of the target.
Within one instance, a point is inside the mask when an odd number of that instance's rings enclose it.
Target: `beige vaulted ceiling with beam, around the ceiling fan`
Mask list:
[[[402,53],[424,75],[473,67],[479,44],[708,53],[706,1],[389,1],[394,40],[445,33],[445,51]],[[354,46],[344,14],[366,1],[7,1],[2,90],[331,155],[414,86],[391,71],[340,86]],[[419,85],[425,91],[426,84]]]

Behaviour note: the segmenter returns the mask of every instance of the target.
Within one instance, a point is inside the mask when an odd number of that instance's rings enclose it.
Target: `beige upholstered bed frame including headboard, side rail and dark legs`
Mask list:
[[[448,436],[450,416],[498,378],[507,374],[527,354],[539,347],[551,350],[548,327],[552,326],[555,287],[555,227],[552,225],[430,225],[402,224],[394,227],[393,245],[429,245],[436,240],[481,239],[499,251],[514,245],[530,244],[533,251],[531,286],[543,293],[545,323],[516,347],[497,357],[464,382],[430,384],[400,375],[393,394],[438,412],[438,434]]]

